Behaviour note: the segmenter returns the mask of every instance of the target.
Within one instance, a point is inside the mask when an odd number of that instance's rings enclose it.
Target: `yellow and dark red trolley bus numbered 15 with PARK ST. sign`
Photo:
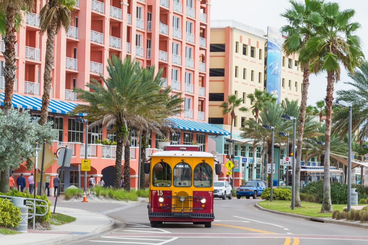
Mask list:
[[[198,151],[196,145],[168,145],[151,155],[144,165],[150,178],[147,208],[151,227],[163,222],[211,227],[215,219],[213,174],[221,173],[221,165],[214,163],[215,155]]]

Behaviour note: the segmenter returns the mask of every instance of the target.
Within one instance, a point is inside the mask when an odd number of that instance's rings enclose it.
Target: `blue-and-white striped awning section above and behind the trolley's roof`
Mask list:
[[[174,122],[178,129],[190,130],[203,133],[219,134],[219,135],[230,135],[226,130],[220,129],[219,127],[213,126],[212,124],[205,122],[197,122],[193,120],[185,120],[179,118],[170,118]]]

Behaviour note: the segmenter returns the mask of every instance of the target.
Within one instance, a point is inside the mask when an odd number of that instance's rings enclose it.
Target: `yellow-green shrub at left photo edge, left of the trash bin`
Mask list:
[[[17,227],[21,221],[21,211],[10,200],[0,199],[0,226]]]

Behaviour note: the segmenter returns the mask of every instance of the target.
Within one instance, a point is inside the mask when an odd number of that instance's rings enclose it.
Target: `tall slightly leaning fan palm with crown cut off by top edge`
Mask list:
[[[304,47],[305,43],[314,36],[312,31],[313,26],[307,21],[309,15],[312,12],[320,12],[322,8],[322,2],[320,0],[305,1],[304,3],[297,3],[296,1],[290,0],[291,8],[286,10],[285,13],[281,14],[289,22],[289,25],[285,25],[281,28],[281,31],[286,35],[286,40],[283,43],[282,49],[287,56],[293,53],[300,53],[301,48]],[[303,58],[299,54],[299,65],[303,71],[303,86],[301,95],[301,106],[299,116],[299,127],[297,137],[297,154],[296,154],[296,166],[295,174],[296,178],[300,176],[300,161],[301,161],[301,150],[302,150],[302,138],[304,132],[305,114],[307,109],[308,99],[308,87],[309,87],[309,64],[311,58]],[[296,192],[299,192],[300,183],[296,183]],[[295,206],[300,207],[300,197],[296,195]]]

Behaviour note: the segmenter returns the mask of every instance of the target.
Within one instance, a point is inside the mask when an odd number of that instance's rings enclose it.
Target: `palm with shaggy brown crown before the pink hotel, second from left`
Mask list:
[[[40,11],[41,33],[47,33],[40,125],[47,122],[47,116],[49,115],[47,109],[49,108],[52,83],[51,73],[54,64],[55,36],[62,27],[66,31],[69,29],[71,12],[74,10],[76,2],[77,0],[48,0]]]

